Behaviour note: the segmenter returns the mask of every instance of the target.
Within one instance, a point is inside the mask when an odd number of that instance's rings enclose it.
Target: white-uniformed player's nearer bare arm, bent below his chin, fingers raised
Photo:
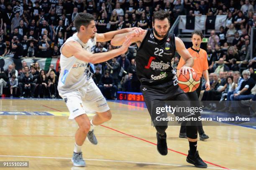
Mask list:
[[[70,43],[66,43],[62,47],[61,53],[68,58],[71,56],[74,56],[81,61],[95,64],[95,63],[102,63],[104,61],[108,61],[111,58],[114,58],[116,56],[119,56],[125,53],[130,45],[131,45],[131,37],[128,37],[128,38],[125,38],[125,42],[123,43],[123,46],[118,49],[111,50],[105,53],[92,54],[84,50],[84,48],[82,48],[82,46],[76,41],[71,41]]]

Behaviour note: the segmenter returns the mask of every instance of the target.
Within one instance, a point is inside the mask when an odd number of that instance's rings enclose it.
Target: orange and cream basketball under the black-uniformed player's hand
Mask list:
[[[178,77],[179,87],[184,92],[192,92],[195,91],[200,84],[200,76],[197,75],[195,71],[191,70],[191,73],[187,73],[187,75],[180,74]]]

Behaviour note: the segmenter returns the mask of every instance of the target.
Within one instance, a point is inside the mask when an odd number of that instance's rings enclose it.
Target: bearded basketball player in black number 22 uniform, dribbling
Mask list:
[[[177,51],[186,61],[180,69],[181,74],[191,72],[194,61],[181,39],[169,33],[169,13],[163,10],[157,11],[154,13],[152,21],[153,29],[141,29],[138,34],[133,32],[115,35],[111,44],[120,46],[125,40],[125,36],[133,34],[134,37],[131,41],[137,43],[139,47],[136,54],[137,76],[141,81],[141,91],[157,131],[157,150],[161,155],[167,155],[165,131],[168,124],[156,121],[155,109],[164,106],[164,101],[184,101],[184,107],[189,107],[186,105],[189,104],[186,102],[188,101],[186,94],[178,86],[172,60]],[[189,113],[184,117],[193,117],[193,115]],[[190,121],[187,123],[192,124]],[[187,162],[196,167],[206,168],[207,164],[199,157],[197,151],[196,125],[186,126],[186,132],[189,140]]]

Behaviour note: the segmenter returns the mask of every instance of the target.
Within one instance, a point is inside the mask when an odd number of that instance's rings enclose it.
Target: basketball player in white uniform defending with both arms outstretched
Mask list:
[[[131,36],[126,38],[123,46],[105,53],[91,53],[92,46],[96,41],[110,41],[116,34],[133,31],[139,33],[138,28],[126,28],[123,30],[111,31],[104,34],[97,34],[94,18],[90,14],[79,13],[74,25],[77,33],[68,38],[61,46],[58,90],[69,109],[69,119],[75,119],[79,128],[75,134],[75,147],[72,162],[74,166],[85,166],[82,158],[81,147],[88,137],[88,140],[97,145],[97,139],[93,133],[96,125],[102,124],[111,119],[111,112],[100,89],[92,80],[94,74],[94,63],[108,61],[127,51],[131,44]],[[90,121],[88,113],[96,112]]]

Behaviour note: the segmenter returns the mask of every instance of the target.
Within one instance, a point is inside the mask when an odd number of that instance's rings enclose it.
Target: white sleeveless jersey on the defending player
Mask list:
[[[77,33],[75,33],[72,37],[69,37],[65,43],[69,41],[77,41],[85,50],[89,52],[91,52],[91,48],[96,45],[96,38],[89,39],[87,43],[83,43],[77,37]],[[61,46],[61,48],[64,46],[64,44]],[[89,79],[91,79],[92,75],[94,74],[93,64],[81,61],[75,56],[67,58],[61,53],[59,63],[61,66],[61,72],[59,75],[58,91],[61,95],[81,88]]]

